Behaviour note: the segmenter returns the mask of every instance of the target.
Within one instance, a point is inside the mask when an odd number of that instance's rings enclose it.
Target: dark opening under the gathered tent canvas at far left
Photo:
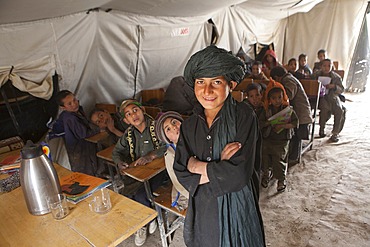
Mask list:
[[[0,95],[0,140],[20,136],[24,142],[32,140],[38,142],[46,134],[46,123],[58,113],[55,95],[59,92],[58,75],[53,76],[53,95],[50,100],[36,98],[29,93],[21,92],[10,81],[1,88],[4,90],[9,105],[13,111],[18,130],[11,117],[4,97]],[[20,133],[19,133],[20,132]]]

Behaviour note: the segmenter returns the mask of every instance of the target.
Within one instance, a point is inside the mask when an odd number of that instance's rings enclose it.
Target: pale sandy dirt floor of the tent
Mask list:
[[[315,139],[301,163],[289,167],[285,192],[276,192],[274,180],[261,187],[267,246],[370,246],[370,93],[346,97],[340,141]],[[135,246],[133,237],[120,246]],[[158,230],[144,246],[162,246]],[[182,228],[170,246],[185,246]]]

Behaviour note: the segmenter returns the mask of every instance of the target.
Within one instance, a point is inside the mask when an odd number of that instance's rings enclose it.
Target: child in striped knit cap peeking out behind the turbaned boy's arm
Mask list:
[[[168,111],[159,116],[155,124],[155,134],[159,140],[167,144],[167,151],[164,154],[166,169],[172,181],[172,205],[180,211],[188,207],[189,192],[180,184],[173,170],[173,161],[177,141],[180,136],[180,126],[183,122],[181,115],[174,111]]]

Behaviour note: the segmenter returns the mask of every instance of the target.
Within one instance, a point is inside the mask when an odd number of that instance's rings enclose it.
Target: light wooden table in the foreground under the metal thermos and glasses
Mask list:
[[[59,177],[70,171],[55,165]],[[96,214],[89,199],[68,203],[62,220],[31,215],[21,188],[0,195],[0,246],[116,246],[156,218],[157,212],[110,191],[112,210]]]

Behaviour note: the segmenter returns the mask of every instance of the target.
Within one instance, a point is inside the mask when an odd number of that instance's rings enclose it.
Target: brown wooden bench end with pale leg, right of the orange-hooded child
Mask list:
[[[310,102],[312,118],[313,118],[312,128],[311,128],[311,133],[310,133],[310,140],[308,141],[308,144],[302,148],[302,151],[301,151],[301,154],[304,154],[307,150],[311,150],[313,146],[315,125],[316,125],[316,115],[317,115],[317,109],[319,107],[321,82],[318,80],[306,80],[306,79],[302,79],[300,80],[300,82]]]

